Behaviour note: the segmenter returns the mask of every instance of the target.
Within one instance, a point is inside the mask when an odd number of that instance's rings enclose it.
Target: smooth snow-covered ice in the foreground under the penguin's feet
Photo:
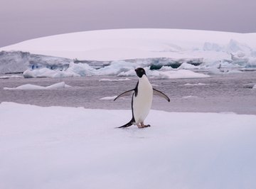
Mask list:
[[[256,116],[0,104],[1,188],[256,188]]]

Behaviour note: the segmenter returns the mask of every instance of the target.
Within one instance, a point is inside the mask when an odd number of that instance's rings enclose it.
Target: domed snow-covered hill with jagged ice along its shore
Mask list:
[[[178,70],[210,74],[256,68],[256,33],[178,29],[85,31],[36,38],[0,50],[21,50],[68,58],[58,60],[33,55],[36,59],[32,58],[29,63],[25,61],[28,70],[24,72],[24,77],[128,76],[134,75],[133,70],[137,67],[154,70],[152,66],[159,69],[164,65],[161,70],[149,72],[149,75],[177,78],[173,74],[176,69],[170,67],[172,65],[181,65]],[[100,67],[97,65],[95,68],[96,63]],[[202,75],[193,74],[192,77]]]

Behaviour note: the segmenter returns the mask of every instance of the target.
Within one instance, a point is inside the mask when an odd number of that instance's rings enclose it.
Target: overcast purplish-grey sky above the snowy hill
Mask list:
[[[0,0],[0,47],[109,28],[256,32],[255,0]]]

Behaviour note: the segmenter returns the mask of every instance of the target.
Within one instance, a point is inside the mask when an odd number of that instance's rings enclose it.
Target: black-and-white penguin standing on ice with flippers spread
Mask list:
[[[149,124],[144,124],[144,119],[146,119],[151,108],[153,94],[160,97],[164,97],[168,102],[170,102],[169,97],[163,92],[156,90],[150,84],[148,78],[146,77],[146,72],[143,68],[135,69],[139,80],[134,89],[123,92],[121,95],[118,95],[114,100],[119,97],[124,97],[132,95],[132,119],[127,124],[119,126],[117,128],[125,128],[136,124],[139,128],[144,128],[150,126]]]

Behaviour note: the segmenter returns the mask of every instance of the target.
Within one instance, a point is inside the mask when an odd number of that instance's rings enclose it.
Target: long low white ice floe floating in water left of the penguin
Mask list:
[[[49,85],[47,87],[26,84],[26,85],[21,85],[14,88],[4,87],[4,90],[56,90],[56,89],[63,89],[65,87],[70,87],[70,85],[66,85],[65,82],[58,82],[53,85]]]

